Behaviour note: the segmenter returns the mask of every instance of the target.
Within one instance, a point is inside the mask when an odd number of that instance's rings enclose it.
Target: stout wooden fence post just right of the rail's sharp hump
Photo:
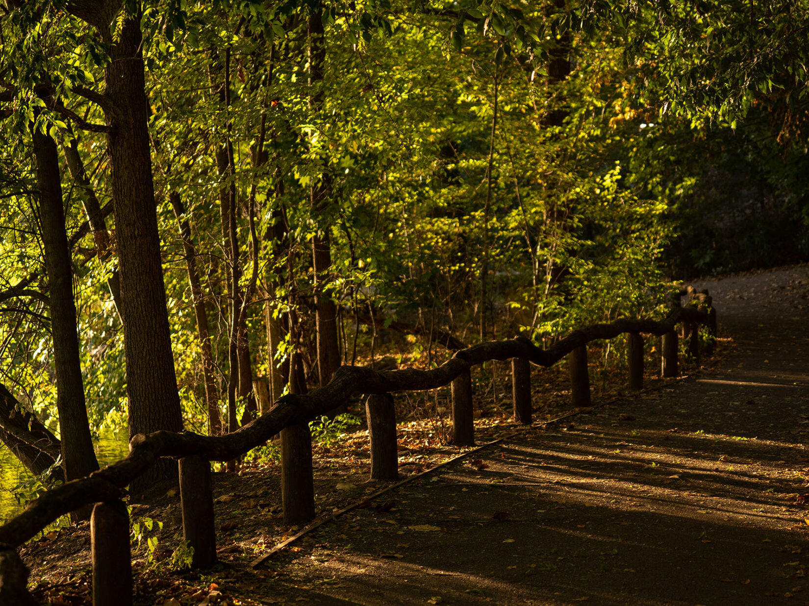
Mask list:
[[[311,471],[309,423],[281,430],[281,503],[284,524],[300,524],[315,517],[315,487]]]

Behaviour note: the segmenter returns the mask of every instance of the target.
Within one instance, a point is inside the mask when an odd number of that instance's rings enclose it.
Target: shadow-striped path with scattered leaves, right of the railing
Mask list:
[[[807,279],[706,282],[733,339],[719,370],[401,486],[269,560],[253,597],[809,604]]]

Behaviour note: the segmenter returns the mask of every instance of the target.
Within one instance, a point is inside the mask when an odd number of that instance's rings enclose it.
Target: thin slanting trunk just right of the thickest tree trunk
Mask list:
[[[208,310],[205,297],[202,294],[200,276],[197,272],[197,250],[191,242],[191,227],[188,219],[184,219],[185,207],[180,200],[180,194],[172,191],[169,196],[172,203],[177,225],[180,227],[180,238],[183,241],[185,252],[185,269],[188,271],[188,283],[191,284],[191,297],[194,302],[194,317],[197,318],[197,333],[199,334],[202,349],[202,374],[205,378],[205,401],[208,404],[208,431],[211,436],[222,433],[222,416],[219,414],[219,394],[214,378],[214,354],[210,345],[210,330],[208,329]]]

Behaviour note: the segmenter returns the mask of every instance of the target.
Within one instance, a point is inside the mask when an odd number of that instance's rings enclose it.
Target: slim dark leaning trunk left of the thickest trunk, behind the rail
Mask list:
[[[40,227],[48,271],[48,291],[56,373],[61,457],[65,478],[83,478],[99,469],[87,421],[81,356],[78,351],[73,271],[65,231],[56,141],[34,132],[36,180],[40,189]],[[89,511],[87,511],[89,516]],[[83,517],[87,517],[83,516]]]

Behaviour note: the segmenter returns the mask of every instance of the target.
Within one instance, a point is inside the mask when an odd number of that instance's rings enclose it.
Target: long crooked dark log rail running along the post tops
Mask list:
[[[437,389],[452,383],[453,397],[463,398],[463,395],[456,396],[456,389],[458,394],[463,393],[464,377],[466,377],[468,385],[468,372],[472,366],[483,364],[489,360],[513,360],[515,415],[518,416],[518,419],[523,423],[530,423],[530,383],[527,383],[527,385],[529,385],[527,392],[528,421],[517,413],[518,392],[525,393],[526,381],[530,381],[530,378],[526,378],[530,377],[530,375],[527,374],[527,362],[549,367],[556,364],[557,361],[561,360],[564,356],[570,354],[571,379],[574,381],[575,400],[576,379],[574,378],[574,370],[572,367],[579,364],[576,360],[583,360],[586,376],[586,353],[583,358],[577,358],[577,353],[583,351],[583,346],[587,345],[587,343],[599,339],[614,339],[625,333],[628,333],[630,337],[637,337],[641,333],[644,333],[663,336],[663,349],[665,350],[667,335],[675,335],[673,330],[678,322],[684,322],[687,325],[699,323],[707,324],[712,330],[715,330],[716,317],[714,310],[710,309],[710,299],[707,297],[707,293],[695,295],[693,289],[689,288],[688,292],[684,291],[681,292],[681,294],[688,294],[692,302],[698,301],[700,304],[704,304],[705,307],[698,309],[697,306],[692,305],[686,307],[676,305],[671,309],[671,313],[667,315],[667,318],[661,321],[621,318],[609,324],[595,324],[582,330],[574,331],[572,334],[565,337],[565,339],[554,343],[553,346],[548,349],[537,347],[530,339],[525,337],[516,337],[515,339],[506,341],[480,343],[456,351],[455,355],[450,360],[447,360],[447,362],[438,368],[430,370],[407,368],[377,372],[371,368],[343,366],[335,372],[328,385],[324,385],[319,389],[313,389],[306,394],[289,394],[283,396],[274,403],[273,407],[265,413],[265,415],[261,415],[258,419],[252,421],[252,423],[248,423],[248,425],[226,436],[200,436],[192,432],[175,433],[172,431],[156,431],[148,436],[142,434],[134,436],[129,442],[129,455],[127,457],[113,465],[109,465],[105,469],[91,473],[87,478],[73,480],[62,486],[48,490],[38,499],[28,503],[22,513],[0,526],[0,545],[5,548],[0,550],[0,570],[2,570],[3,558],[13,559],[17,557],[13,549],[35,537],[38,532],[46,528],[49,524],[52,524],[53,521],[57,520],[59,517],[91,503],[115,503],[117,499],[121,498],[121,489],[129,485],[133,479],[145,473],[146,470],[150,469],[151,465],[154,465],[161,457],[171,457],[181,460],[180,489],[183,490],[182,461],[202,461],[208,468],[205,473],[210,473],[210,465],[207,464],[207,461],[230,461],[235,457],[243,455],[252,448],[264,444],[279,432],[285,432],[282,433],[282,441],[286,436],[289,436],[290,440],[288,441],[292,443],[296,439],[296,436],[294,433],[290,432],[293,432],[296,428],[306,427],[305,423],[308,421],[316,419],[320,415],[324,415],[330,410],[345,404],[350,398],[358,394],[378,394],[382,396],[383,394],[392,392]],[[676,337],[674,343],[676,356]],[[630,349],[631,346],[632,339],[630,339]],[[519,364],[517,364],[518,361]],[[524,364],[524,366],[520,364]],[[523,370],[520,370],[520,368]],[[518,375],[520,378],[518,378]],[[518,387],[519,381],[522,381],[522,387]],[[471,423],[471,387],[466,389],[468,390],[466,397],[468,398],[469,410],[468,415],[466,415],[466,413],[464,413],[464,415],[468,417],[468,427],[472,428],[471,431],[473,431]],[[587,399],[589,399],[589,387],[587,387]],[[388,406],[388,404],[386,404],[385,398],[383,397],[369,399],[368,411],[372,442],[372,461],[376,452],[383,453],[386,450],[388,452],[390,451],[390,444],[387,446],[384,444],[377,444],[375,446],[373,444],[375,428],[371,427],[371,416],[377,419],[377,415],[379,415],[379,419],[383,419],[383,416],[385,417],[384,423],[388,423],[388,427],[390,427],[389,423],[394,423],[393,427],[395,427],[396,421],[392,416],[392,403],[389,403],[388,409],[386,409],[386,406]],[[455,442],[458,444],[471,444],[472,441],[464,441],[464,438],[460,436],[458,424],[458,415],[460,413],[455,412],[455,405],[453,409],[453,415],[455,417]],[[391,412],[380,412],[382,410],[390,410]],[[380,432],[379,435],[382,435],[382,433]],[[390,431],[388,431],[387,436],[390,435]],[[392,435],[395,444],[395,430]],[[305,439],[308,440],[308,431],[306,431]],[[473,436],[469,436],[465,438],[465,440],[473,440]],[[385,441],[390,440],[386,438]],[[284,455],[287,455],[290,460],[292,460],[294,457],[299,458],[300,452],[293,452],[293,447],[290,447],[288,453],[285,445],[282,446],[282,457]],[[194,465],[197,465],[197,463]],[[309,446],[308,465],[308,481],[311,484],[311,446]],[[395,445],[393,448],[393,465],[393,473],[395,474]],[[189,463],[188,469],[191,469],[191,467],[192,465]],[[372,474],[374,473],[373,469],[374,465],[372,462]],[[290,475],[292,474],[290,473]],[[299,474],[295,473],[295,475]],[[200,477],[201,476],[197,476],[197,478]],[[293,481],[293,483],[297,483],[300,486],[300,482],[298,481]],[[284,496],[283,499],[286,505],[286,496]],[[184,517],[185,514],[184,504]],[[210,527],[212,528],[212,506],[210,507],[210,513],[206,515],[210,516]],[[110,516],[110,514],[105,513],[104,516]],[[311,518],[313,513],[310,513],[308,516]],[[299,516],[299,519],[306,519],[306,516]],[[107,518],[99,516],[99,520],[99,524],[101,524],[101,520],[107,520]],[[128,549],[127,553],[129,553]],[[212,558],[215,560],[215,543]],[[95,581],[94,573],[94,584]],[[6,584],[0,583],[0,592],[6,591],[4,587],[6,587]],[[0,598],[2,598],[2,595],[0,595]],[[101,601],[103,602],[104,600]],[[0,599],[0,603],[2,603],[2,599]]]

